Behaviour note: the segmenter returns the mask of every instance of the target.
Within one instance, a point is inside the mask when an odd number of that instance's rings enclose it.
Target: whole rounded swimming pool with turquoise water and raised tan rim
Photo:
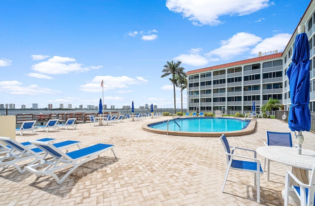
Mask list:
[[[167,131],[168,121],[168,131]],[[240,118],[176,118],[144,125],[149,132],[198,137],[239,136],[252,133],[256,120]]]

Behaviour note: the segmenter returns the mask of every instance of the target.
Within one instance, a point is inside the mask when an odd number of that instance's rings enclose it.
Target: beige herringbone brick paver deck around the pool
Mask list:
[[[52,177],[20,174],[13,167],[0,169],[0,205],[258,205],[252,173],[231,170],[221,192],[226,158],[219,137],[166,136],[142,130],[143,124],[167,118],[95,127],[84,123],[75,130],[16,136],[19,142],[47,137],[81,141],[81,147],[113,144],[118,160],[105,152],[77,168],[61,185]],[[232,146],[256,149],[263,146],[266,130],[290,131],[280,120],[259,118],[254,133],[228,140]],[[302,147],[315,150],[315,134],[303,135]],[[263,164],[264,158],[258,155],[258,159]],[[290,168],[270,164],[270,181],[266,173],[261,175],[260,204],[283,205],[284,174]]]

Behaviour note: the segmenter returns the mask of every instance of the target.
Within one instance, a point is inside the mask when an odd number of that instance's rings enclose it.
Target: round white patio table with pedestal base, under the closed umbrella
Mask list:
[[[297,150],[297,147],[283,146],[264,146],[256,149],[259,155],[267,159],[291,166],[292,174],[301,182],[308,184],[308,171],[315,165],[315,151],[302,148],[301,154],[298,154]],[[292,184],[294,184],[293,180],[290,179],[290,185]],[[284,197],[284,191],[282,191],[282,196]],[[289,201],[291,205],[294,205],[292,200],[299,203],[294,192],[290,193]]]

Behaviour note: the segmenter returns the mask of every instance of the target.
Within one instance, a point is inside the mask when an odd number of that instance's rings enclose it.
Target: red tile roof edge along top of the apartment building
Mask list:
[[[210,67],[206,67],[206,68],[202,68],[202,69],[196,69],[196,70],[188,71],[186,73],[187,74],[194,74],[194,73],[205,72],[205,71],[209,71],[209,70],[213,70],[213,69],[220,69],[220,68],[225,68],[225,67],[233,67],[233,66],[237,66],[237,65],[240,65],[240,64],[247,64],[247,63],[252,63],[252,62],[256,62],[256,61],[262,61],[262,60],[267,60],[267,59],[275,59],[275,58],[281,57],[282,54],[283,53],[277,53],[277,54],[273,54],[273,55],[256,57],[256,58],[252,58],[252,59],[235,61],[235,62],[221,64],[221,65],[217,65],[217,66],[210,66]]]

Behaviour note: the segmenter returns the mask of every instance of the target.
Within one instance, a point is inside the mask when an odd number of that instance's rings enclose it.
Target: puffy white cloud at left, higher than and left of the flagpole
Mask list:
[[[43,74],[68,74],[70,72],[86,72],[91,69],[98,69],[102,66],[83,66],[76,63],[76,59],[68,57],[54,56],[47,61],[42,61],[32,65],[32,70]]]

